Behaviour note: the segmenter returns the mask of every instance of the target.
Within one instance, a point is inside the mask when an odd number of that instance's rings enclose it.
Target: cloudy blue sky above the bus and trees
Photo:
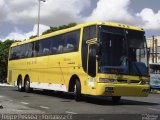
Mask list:
[[[0,0],[0,41],[37,34],[38,0]],[[160,36],[160,0],[46,0],[41,2],[40,34],[71,22],[112,21],[139,26]]]

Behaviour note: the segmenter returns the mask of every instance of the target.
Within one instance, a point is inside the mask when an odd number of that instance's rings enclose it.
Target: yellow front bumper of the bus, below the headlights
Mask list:
[[[98,83],[97,95],[102,96],[137,96],[147,97],[149,85]]]

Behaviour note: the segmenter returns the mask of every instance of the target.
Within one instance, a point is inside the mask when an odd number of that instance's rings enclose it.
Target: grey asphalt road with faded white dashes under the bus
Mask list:
[[[25,93],[0,85],[0,119],[5,120],[3,114],[67,114],[73,120],[160,120],[160,94],[122,97],[118,105],[106,97],[84,96],[83,99],[76,102],[68,93],[43,90]]]

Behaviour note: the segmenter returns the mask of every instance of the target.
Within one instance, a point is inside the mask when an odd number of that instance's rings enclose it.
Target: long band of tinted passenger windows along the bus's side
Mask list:
[[[80,30],[12,47],[10,60],[61,54],[78,50]]]

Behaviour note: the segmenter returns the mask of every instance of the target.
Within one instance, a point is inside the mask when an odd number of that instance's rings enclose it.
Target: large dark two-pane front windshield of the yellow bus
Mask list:
[[[148,75],[144,32],[101,26],[99,72]]]

